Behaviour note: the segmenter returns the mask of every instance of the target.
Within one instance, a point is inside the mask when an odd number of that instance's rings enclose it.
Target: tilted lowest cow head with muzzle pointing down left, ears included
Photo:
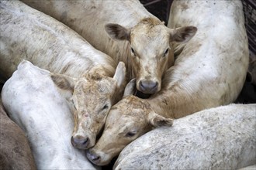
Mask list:
[[[127,84],[124,98],[111,108],[101,138],[87,152],[95,165],[109,164],[126,145],[152,128],[172,125],[171,118],[156,114],[146,100],[130,95],[130,86],[135,88],[135,80]]]

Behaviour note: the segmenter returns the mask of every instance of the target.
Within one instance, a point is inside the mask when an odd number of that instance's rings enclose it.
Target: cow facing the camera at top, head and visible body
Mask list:
[[[130,76],[137,78],[143,93],[161,90],[161,78],[173,65],[171,42],[187,42],[195,35],[194,26],[169,29],[133,1],[37,1],[22,0],[74,29],[88,42],[126,63]]]

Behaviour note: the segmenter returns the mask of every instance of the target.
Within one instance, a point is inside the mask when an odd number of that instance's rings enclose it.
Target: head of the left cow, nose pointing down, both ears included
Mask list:
[[[72,92],[71,106],[74,113],[74,131],[71,143],[76,148],[87,149],[95,145],[95,139],[106,121],[112,104],[115,104],[120,88],[125,86],[126,68],[119,63],[113,77],[98,73],[86,74],[74,79],[70,76],[51,74],[57,87]]]

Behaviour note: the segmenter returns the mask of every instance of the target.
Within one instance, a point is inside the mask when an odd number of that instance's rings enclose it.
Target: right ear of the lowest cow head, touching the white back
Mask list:
[[[154,127],[171,126],[173,124],[173,119],[163,117],[154,111],[150,111],[147,115],[147,121]]]

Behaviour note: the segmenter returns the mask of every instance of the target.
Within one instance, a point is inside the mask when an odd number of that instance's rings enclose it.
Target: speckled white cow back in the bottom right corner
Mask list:
[[[237,169],[256,163],[256,104],[202,110],[126,146],[114,169]]]

